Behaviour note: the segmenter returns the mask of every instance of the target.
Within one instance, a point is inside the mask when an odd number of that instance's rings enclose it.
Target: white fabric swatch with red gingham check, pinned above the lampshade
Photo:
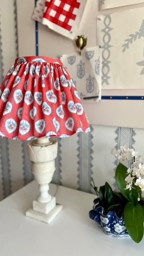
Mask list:
[[[87,0],[46,0],[42,24],[74,39]]]

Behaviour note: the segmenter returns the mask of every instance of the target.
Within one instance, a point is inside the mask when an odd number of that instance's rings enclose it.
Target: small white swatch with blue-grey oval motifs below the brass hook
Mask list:
[[[80,98],[98,96],[101,100],[102,51],[99,46],[82,50],[82,55],[65,54],[60,60],[76,84]]]

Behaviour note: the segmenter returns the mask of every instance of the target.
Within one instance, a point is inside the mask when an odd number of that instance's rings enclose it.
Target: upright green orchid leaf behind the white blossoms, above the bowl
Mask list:
[[[115,179],[116,179],[116,184],[118,185],[118,188],[122,195],[130,201],[130,191],[126,190],[126,182],[125,178],[127,177],[126,171],[127,167],[124,166],[124,164],[119,163],[117,168],[116,168],[116,174],[115,174]]]

